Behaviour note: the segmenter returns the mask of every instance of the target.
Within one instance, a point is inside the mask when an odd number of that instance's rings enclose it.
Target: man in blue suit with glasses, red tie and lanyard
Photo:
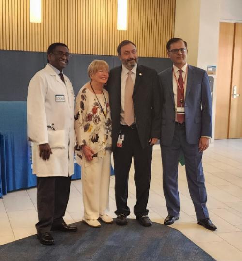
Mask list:
[[[173,66],[159,74],[162,98],[160,143],[168,211],[164,225],[171,225],[179,219],[178,160],[183,152],[197,224],[216,230],[206,207],[202,168],[202,153],[208,148],[212,135],[212,98],[208,75],[204,70],[187,64],[187,43],[181,38],[170,39],[166,49]]]

